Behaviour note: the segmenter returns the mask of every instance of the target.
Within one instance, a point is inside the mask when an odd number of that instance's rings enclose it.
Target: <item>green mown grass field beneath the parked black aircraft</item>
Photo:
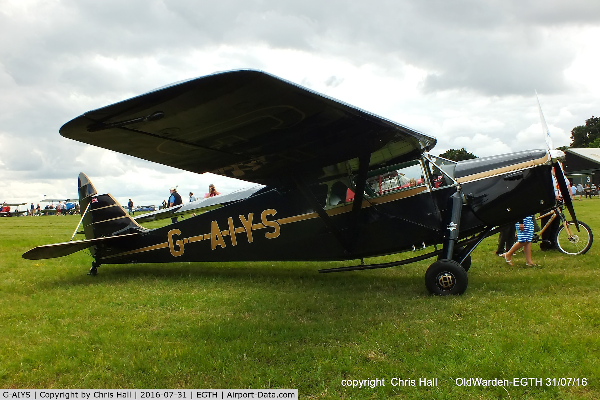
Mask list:
[[[600,234],[600,201],[575,201]],[[155,222],[156,224],[157,222]],[[541,252],[538,267],[473,254],[469,288],[433,297],[431,260],[319,275],[348,263],[106,265],[68,240],[77,216],[0,218],[0,386],[298,389],[301,398],[599,399],[600,263]],[[598,239],[600,240],[600,239]],[[412,257],[414,253],[401,254]],[[392,261],[398,256],[368,262]],[[391,378],[438,378],[393,387]],[[587,386],[458,387],[458,377],[587,378]],[[385,378],[385,387],[341,386]]]

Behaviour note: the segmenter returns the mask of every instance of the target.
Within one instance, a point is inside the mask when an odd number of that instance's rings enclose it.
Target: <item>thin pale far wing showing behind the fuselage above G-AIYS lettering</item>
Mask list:
[[[164,218],[173,218],[175,216],[190,214],[193,212],[202,212],[209,207],[217,206],[219,204],[247,199],[262,188],[264,188],[263,185],[256,185],[250,188],[239,189],[228,194],[218,194],[217,196],[192,201],[191,203],[183,203],[179,206],[173,206],[162,210],[148,212],[139,216],[134,216],[133,219],[135,219],[137,222],[148,222],[157,221],[158,219]]]

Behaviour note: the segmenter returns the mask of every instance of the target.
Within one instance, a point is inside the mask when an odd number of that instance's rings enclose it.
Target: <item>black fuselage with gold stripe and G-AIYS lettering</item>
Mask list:
[[[385,191],[379,179],[379,193],[365,197],[358,215],[352,212],[352,201],[331,205],[329,184],[322,199],[329,226],[299,190],[272,189],[118,245],[98,245],[96,257],[108,264],[325,261],[394,254],[443,242],[446,204],[457,183],[464,199],[461,238],[555,204],[550,157],[543,150],[461,161],[454,168],[454,181],[447,179],[438,188],[427,160],[419,163],[425,171],[419,185]]]

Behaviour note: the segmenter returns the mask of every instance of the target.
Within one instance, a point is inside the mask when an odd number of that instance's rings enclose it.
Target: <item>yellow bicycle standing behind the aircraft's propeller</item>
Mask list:
[[[548,219],[544,227],[538,233],[533,235],[532,243],[544,242],[550,245],[553,244],[550,240],[541,239],[540,236],[545,230],[548,229],[548,227],[550,227],[554,219],[560,218],[562,223],[559,230],[557,230],[556,234],[554,235],[554,246],[556,246],[556,248],[564,254],[586,254],[586,252],[592,247],[592,242],[594,240],[592,229],[590,229],[586,223],[577,221],[577,224],[580,228],[580,231],[577,231],[577,228],[575,228],[575,222],[566,220],[565,214],[560,208],[561,206],[562,203],[557,205],[556,208],[550,212],[547,212],[544,215],[540,215],[538,218],[536,218],[536,220],[539,220],[546,216],[550,216],[550,219]]]

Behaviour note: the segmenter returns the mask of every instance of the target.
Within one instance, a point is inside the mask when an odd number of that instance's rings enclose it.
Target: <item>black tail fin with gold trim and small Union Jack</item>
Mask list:
[[[79,174],[77,184],[79,206],[82,212],[85,212],[82,225],[86,239],[147,230],[137,224],[110,194],[98,194],[85,173]]]

